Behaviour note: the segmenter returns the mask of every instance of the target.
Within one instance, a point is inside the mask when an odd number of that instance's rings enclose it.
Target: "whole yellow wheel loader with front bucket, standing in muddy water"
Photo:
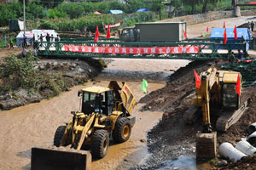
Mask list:
[[[62,166],[65,162],[60,161],[58,164],[55,160],[61,160],[61,156],[68,157],[68,155],[76,157],[69,164],[78,169],[84,169],[83,166],[78,165],[84,165],[84,161],[79,163],[77,161],[78,159],[83,160],[81,158],[83,154],[79,150],[90,150],[92,157],[99,159],[107,155],[110,137],[113,137],[117,143],[128,140],[131,135],[131,127],[135,123],[135,117],[131,117],[131,114],[136,101],[127,84],[125,82],[122,84],[123,86],[120,88],[118,82],[111,81],[108,88],[92,86],[80,90],[78,95],[81,96],[81,111],[71,111],[72,120],[66,126],[58,127],[55,132],[54,145],[65,147],[67,150],[33,148],[32,169],[40,169],[37,167],[44,166],[46,161],[48,164],[49,161],[54,162],[54,164],[48,165],[49,167],[54,166],[53,169],[65,169],[67,165]],[[70,153],[70,149],[73,149],[72,153]],[[57,158],[50,158],[51,160],[46,160],[43,163],[40,163],[36,157],[53,155],[53,153]],[[90,153],[85,153],[87,157],[90,157],[88,154]],[[44,159],[45,157],[47,159],[49,156],[44,156]],[[38,165],[34,161],[37,161]],[[44,169],[49,169],[49,167],[44,167]]]

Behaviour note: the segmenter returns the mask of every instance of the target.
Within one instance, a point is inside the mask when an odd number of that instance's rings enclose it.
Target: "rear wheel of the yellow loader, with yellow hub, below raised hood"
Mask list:
[[[113,129],[113,139],[117,143],[127,141],[131,136],[131,122],[126,117],[119,118]]]

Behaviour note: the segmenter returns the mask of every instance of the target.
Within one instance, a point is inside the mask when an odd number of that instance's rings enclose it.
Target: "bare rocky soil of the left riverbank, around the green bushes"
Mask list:
[[[60,75],[63,80],[62,83],[64,83],[63,86],[66,87],[60,90],[67,91],[68,88],[96,77],[102,72],[102,64],[97,59],[38,59],[36,69],[46,71],[49,73],[49,77],[53,74]],[[50,87],[40,91],[27,90],[20,87],[14,91],[0,94],[0,111],[39,102],[55,95],[55,92]]]

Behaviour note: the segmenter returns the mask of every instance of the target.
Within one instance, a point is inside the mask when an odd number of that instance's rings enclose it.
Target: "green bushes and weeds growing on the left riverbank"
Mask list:
[[[61,72],[39,71],[36,65],[37,59],[30,53],[21,59],[15,55],[5,58],[5,65],[2,65],[0,69],[0,76],[3,79],[3,86],[0,91],[14,91],[21,87],[27,91],[40,93],[44,89],[48,89],[51,91],[51,96],[55,96],[61,91],[67,90]]]

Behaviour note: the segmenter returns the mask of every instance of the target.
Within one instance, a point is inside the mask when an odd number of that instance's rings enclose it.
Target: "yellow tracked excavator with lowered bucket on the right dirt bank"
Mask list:
[[[216,156],[217,133],[226,131],[236,123],[247,109],[247,102],[241,105],[241,96],[236,92],[236,86],[241,73],[236,71],[218,71],[212,65],[201,73],[201,87],[195,88],[194,105],[184,112],[186,124],[193,124],[202,115],[203,130],[196,134],[196,158],[205,159]],[[241,91],[241,83],[238,83]],[[212,126],[211,117],[218,117]]]

